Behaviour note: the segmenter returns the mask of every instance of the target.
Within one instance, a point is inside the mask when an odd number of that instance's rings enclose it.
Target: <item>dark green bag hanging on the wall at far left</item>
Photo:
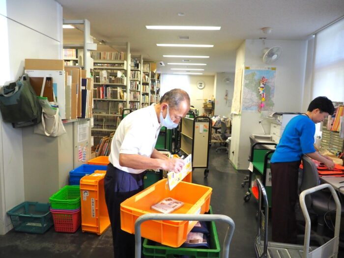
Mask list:
[[[3,121],[12,123],[14,128],[35,125],[41,121],[42,108],[28,75],[0,88],[0,111]]]

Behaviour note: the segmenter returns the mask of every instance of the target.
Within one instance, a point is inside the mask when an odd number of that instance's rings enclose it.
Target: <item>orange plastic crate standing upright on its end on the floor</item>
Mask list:
[[[80,180],[81,228],[101,235],[110,226],[104,192],[105,171],[96,170]]]

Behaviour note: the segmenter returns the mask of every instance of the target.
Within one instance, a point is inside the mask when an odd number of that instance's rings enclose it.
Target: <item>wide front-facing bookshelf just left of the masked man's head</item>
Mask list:
[[[93,58],[93,128],[95,148],[114,133],[127,107],[128,64],[124,52],[91,52]]]

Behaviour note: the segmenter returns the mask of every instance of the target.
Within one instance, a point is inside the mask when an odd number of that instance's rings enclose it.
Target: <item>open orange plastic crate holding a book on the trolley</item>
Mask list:
[[[170,191],[166,184],[167,179],[162,179],[121,203],[122,230],[134,234],[137,218],[143,214],[156,213],[150,207],[167,197],[184,202],[184,205],[173,213],[204,214],[209,210],[212,193],[210,187],[181,181]],[[187,234],[196,223],[196,221],[146,221],[141,225],[141,234],[144,238],[155,242],[179,247],[185,242]]]

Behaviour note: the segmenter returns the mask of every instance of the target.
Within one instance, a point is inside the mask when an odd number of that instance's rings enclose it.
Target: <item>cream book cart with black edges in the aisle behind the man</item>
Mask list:
[[[211,119],[208,116],[184,117],[180,125],[180,150],[192,154],[192,168],[205,168],[204,177],[209,173],[209,146]]]

